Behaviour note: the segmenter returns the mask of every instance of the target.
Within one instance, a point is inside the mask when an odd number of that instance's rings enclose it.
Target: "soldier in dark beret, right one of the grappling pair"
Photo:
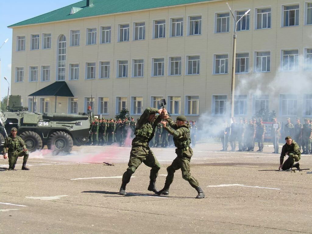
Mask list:
[[[165,185],[157,194],[169,195],[169,187],[173,182],[173,175],[176,170],[181,169],[182,178],[188,181],[188,183],[196,189],[198,193],[196,198],[204,198],[205,194],[199,187],[197,179],[191,176],[190,173],[190,161],[193,156],[193,150],[190,147],[191,136],[189,126],[185,123],[187,119],[184,115],[179,115],[176,123],[174,123],[169,116],[165,120],[166,121],[162,121],[163,127],[169,134],[173,135],[174,145],[177,147],[175,150],[177,157],[173,160],[171,165],[167,167],[168,175],[166,177]]]

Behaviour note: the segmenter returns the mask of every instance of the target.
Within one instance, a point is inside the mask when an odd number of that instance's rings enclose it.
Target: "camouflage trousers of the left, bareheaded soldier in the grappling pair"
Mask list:
[[[130,151],[128,168],[122,176],[123,184],[129,183],[131,175],[135,172],[139,165],[141,165],[141,163],[144,163],[146,166],[152,168],[149,173],[149,179],[151,181],[156,180],[160,164],[158,163],[153,151],[149,148],[149,146],[133,144]]]

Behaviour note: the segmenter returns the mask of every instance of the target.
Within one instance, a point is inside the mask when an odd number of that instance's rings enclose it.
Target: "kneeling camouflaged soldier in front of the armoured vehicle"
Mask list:
[[[9,170],[14,170],[18,157],[24,157],[22,170],[29,170],[26,167],[28,155],[29,152],[25,142],[21,137],[17,136],[17,129],[12,128],[11,134],[5,139],[3,145],[3,158],[9,158]]]

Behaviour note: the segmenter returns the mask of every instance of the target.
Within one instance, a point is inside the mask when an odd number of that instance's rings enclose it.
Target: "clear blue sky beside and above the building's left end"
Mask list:
[[[80,0],[0,0],[0,46],[9,38],[7,43],[0,49],[1,100],[7,95],[7,81],[4,80],[4,76],[7,77],[11,87],[12,29],[7,28],[7,26],[54,11],[75,2],[80,2]]]

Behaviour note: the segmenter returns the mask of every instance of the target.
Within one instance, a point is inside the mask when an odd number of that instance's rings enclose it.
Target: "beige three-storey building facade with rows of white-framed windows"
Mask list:
[[[229,117],[226,2],[237,19],[251,9],[237,26],[234,116],[264,108],[312,117],[312,1],[303,0],[206,1],[13,26],[11,93],[37,112],[92,105],[95,115],[127,108],[136,119],[165,98],[172,115]],[[74,97],[28,96],[57,81]]]

